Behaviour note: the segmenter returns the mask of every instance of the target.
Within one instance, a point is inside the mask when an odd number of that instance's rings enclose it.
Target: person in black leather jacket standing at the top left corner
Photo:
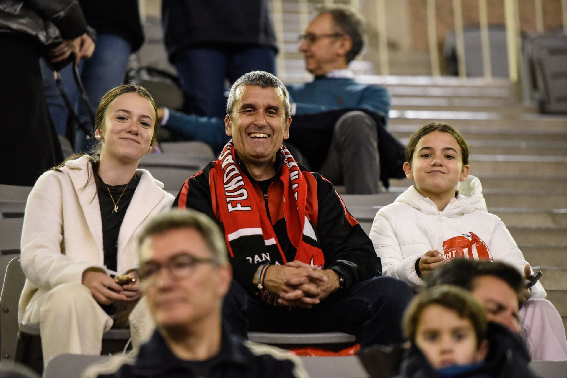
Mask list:
[[[0,183],[32,186],[43,171],[63,160],[45,104],[39,59],[63,62],[71,53],[80,56],[86,31],[77,0],[2,1]]]

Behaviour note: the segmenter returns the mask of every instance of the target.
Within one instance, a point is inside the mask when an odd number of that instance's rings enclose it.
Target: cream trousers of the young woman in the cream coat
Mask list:
[[[143,337],[151,334],[152,330],[145,327],[153,327],[146,321],[147,306],[142,306],[141,311],[138,307],[136,305],[129,314],[119,313],[128,316],[134,347],[141,343],[142,334]],[[115,323],[92,298],[88,287],[77,283],[58,285],[41,295],[35,305],[26,310],[24,319],[39,323],[44,365],[64,353],[99,355],[103,334]]]

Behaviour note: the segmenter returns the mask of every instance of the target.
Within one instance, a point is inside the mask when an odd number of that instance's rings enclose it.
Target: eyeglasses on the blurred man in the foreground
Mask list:
[[[148,261],[138,268],[138,277],[142,281],[155,280],[160,270],[165,267],[168,273],[176,279],[185,278],[193,274],[197,264],[217,264],[212,257],[197,257],[189,254],[179,254],[171,257],[166,263]]]

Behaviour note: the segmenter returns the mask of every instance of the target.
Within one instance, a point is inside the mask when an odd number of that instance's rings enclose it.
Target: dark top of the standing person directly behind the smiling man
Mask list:
[[[163,0],[167,53],[196,45],[268,46],[277,51],[268,0]]]

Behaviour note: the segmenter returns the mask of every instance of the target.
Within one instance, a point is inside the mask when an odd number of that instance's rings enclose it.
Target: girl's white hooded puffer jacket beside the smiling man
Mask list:
[[[384,275],[407,282],[415,291],[424,285],[415,269],[417,259],[429,250],[442,251],[446,260],[458,257],[459,248],[447,246],[444,250],[443,244],[458,244],[451,243],[454,238],[464,246],[475,236],[482,241],[460,248],[465,257],[477,260],[488,249],[490,259],[509,263],[523,275],[527,261],[522,251],[500,218],[487,211],[480,180],[472,175],[459,184],[459,196],[452,198],[443,211],[416,188],[409,187],[376,213],[370,230]],[[531,298],[546,295],[540,282],[531,292]]]

